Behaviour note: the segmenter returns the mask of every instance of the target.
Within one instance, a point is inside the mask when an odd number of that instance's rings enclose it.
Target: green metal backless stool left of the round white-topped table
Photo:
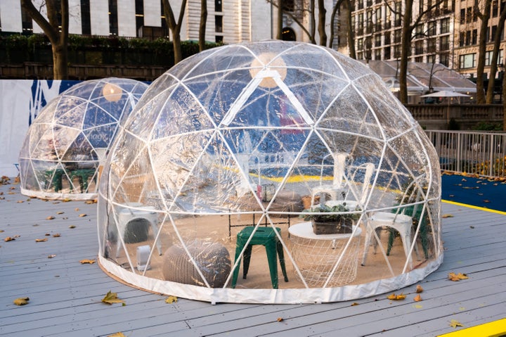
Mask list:
[[[232,288],[235,288],[235,284],[237,284],[237,278],[239,274],[240,267],[240,253],[242,248],[244,248],[247,243],[249,236],[252,235],[254,227],[248,226],[245,229],[242,229],[237,235],[237,243],[235,243],[235,261],[239,259],[238,267],[235,268],[232,277]],[[278,233],[281,231],[278,227],[276,227],[276,231]],[[285,256],[283,254],[283,244],[280,243],[278,236],[276,236],[275,231],[272,227],[258,227],[257,231],[254,232],[251,241],[245,250],[244,253],[244,265],[242,266],[242,278],[246,279],[246,275],[249,269],[249,260],[251,260],[252,246],[254,245],[262,245],[266,248],[267,260],[269,265],[269,272],[271,272],[271,282],[273,284],[273,288],[278,288],[278,255],[280,259],[281,270],[283,271],[283,276],[285,276],[285,282],[288,281],[288,276],[285,268]]]

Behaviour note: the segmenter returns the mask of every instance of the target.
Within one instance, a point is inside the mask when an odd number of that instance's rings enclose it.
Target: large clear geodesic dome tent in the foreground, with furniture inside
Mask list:
[[[312,44],[171,68],[115,139],[98,198],[101,267],[185,298],[350,300],[443,257],[432,144],[380,77]]]

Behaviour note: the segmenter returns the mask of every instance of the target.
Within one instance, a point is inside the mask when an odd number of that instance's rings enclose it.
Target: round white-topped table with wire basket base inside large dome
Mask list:
[[[360,227],[353,226],[353,233],[349,234],[314,234],[311,222],[300,222],[288,231],[292,256],[308,286],[325,285],[341,255],[327,287],[344,286],[355,280],[362,233]],[[348,248],[344,251],[348,241]],[[300,280],[297,272],[296,276]]]

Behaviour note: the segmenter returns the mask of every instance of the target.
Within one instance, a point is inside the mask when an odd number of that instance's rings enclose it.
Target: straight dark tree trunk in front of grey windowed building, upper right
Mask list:
[[[403,17],[403,25],[401,32],[401,64],[399,65],[399,101],[401,103],[408,103],[408,57],[411,48],[411,16],[413,13],[413,1],[406,1],[406,9]]]

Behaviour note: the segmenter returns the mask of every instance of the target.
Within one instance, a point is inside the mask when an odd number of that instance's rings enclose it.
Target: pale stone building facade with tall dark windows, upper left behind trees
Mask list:
[[[156,39],[170,37],[160,0],[68,0],[70,34]],[[46,15],[44,0],[32,1]],[[171,0],[174,15],[179,17],[181,0]],[[206,40],[226,44],[274,39],[277,32],[277,1],[214,0],[207,1]],[[297,21],[311,31],[311,18],[304,11],[304,0],[283,1],[283,32],[286,39],[310,41]],[[197,40],[200,25],[200,0],[188,0],[181,27],[181,40]],[[325,8],[333,1],[325,0]],[[329,30],[330,13],[326,28]],[[32,34],[42,30],[23,10],[19,0],[0,1],[0,31]],[[329,34],[329,33],[327,33]],[[316,33],[318,39],[318,33]]]

